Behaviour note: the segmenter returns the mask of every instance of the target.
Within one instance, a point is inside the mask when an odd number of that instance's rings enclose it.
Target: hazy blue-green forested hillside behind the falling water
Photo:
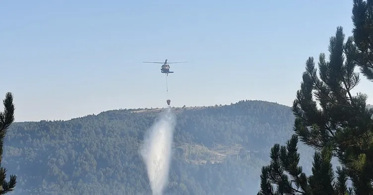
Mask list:
[[[159,112],[115,110],[67,121],[13,123],[3,166],[17,175],[15,194],[149,195],[138,150]],[[290,108],[276,103],[240,101],[174,112],[169,195],[256,194],[269,149],[293,134]],[[311,156],[302,160],[311,171]]]

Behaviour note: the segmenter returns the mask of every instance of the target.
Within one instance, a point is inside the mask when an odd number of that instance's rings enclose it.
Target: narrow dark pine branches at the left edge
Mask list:
[[[1,166],[4,137],[7,128],[14,121],[13,96],[10,92],[6,93],[3,100],[4,112],[0,112],[0,194],[6,194],[14,190],[16,185],[16,176],[10,175],[10,180],[6,181],[6,169]]]

